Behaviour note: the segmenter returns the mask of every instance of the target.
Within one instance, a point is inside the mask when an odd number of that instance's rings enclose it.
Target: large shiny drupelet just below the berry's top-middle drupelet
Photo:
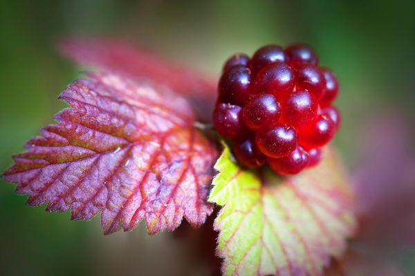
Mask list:
[[[281,62],[269,64],[255,76],[255,87],[258,92],[270,93],[277,99],[292,91],[294,87],[294,73],[291,68]]]

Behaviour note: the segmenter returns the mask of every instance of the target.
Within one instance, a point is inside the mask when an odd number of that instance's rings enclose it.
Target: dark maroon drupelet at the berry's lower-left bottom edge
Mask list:
[[[265,163],[264,154],[259,151],[255,142],[251,139],[234,145],[234,155],[243,166],[250,169],[261,167]]]

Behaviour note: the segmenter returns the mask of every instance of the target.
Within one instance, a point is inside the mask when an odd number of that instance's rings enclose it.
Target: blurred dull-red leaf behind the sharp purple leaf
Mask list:
[[[199,118],[212,120],[216,78],[169,62],[123,39],[73,38],[64,40],[60,48],[80,64],[163,84],[175,93],[185,95],[196,107]]]

